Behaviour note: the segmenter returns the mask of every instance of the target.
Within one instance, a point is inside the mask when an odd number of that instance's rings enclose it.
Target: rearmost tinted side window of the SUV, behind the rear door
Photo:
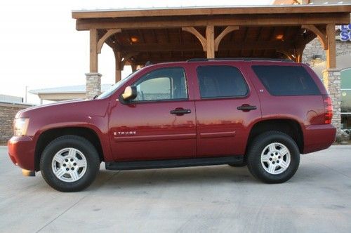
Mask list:
[[[253,71],[271,95],[320,95],[304,67],[253,65]]]

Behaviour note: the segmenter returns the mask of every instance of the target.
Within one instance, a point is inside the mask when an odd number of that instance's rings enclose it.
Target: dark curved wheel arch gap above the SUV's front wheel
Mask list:
[[[41,154],[44,151],[46,145],[55,138],[63,135],[77,135],[85,138],[96,148],[99,154],[100,161],[105,161],[104,152],[102,150],[101,140],[92,128],[88,127],[61,127],[61,128],[50,128],[39,135],[37,145],[34,151],[34,169],[40,171],[40,159]]]

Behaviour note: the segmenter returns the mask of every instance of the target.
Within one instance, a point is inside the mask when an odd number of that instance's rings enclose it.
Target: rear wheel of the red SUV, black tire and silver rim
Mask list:
[[[269,184],[282,183],[298,170],[300,152],[289,135],[268,131],[258,135],[251,143],[247,163],[249,171],[258,180]]]

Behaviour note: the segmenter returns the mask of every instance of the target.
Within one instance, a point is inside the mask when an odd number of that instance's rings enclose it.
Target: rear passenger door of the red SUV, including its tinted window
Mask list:
[[[197,156],[243,155],[249,129],[261,117],[260,102],[244,65],[194,65],[197,76]]]

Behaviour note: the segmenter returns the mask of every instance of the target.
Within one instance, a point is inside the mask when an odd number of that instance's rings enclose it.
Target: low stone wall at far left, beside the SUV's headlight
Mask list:
[[[21,109],[32,105],[0,102],[0,144],[6,143],[13,135],[13,119]]]

